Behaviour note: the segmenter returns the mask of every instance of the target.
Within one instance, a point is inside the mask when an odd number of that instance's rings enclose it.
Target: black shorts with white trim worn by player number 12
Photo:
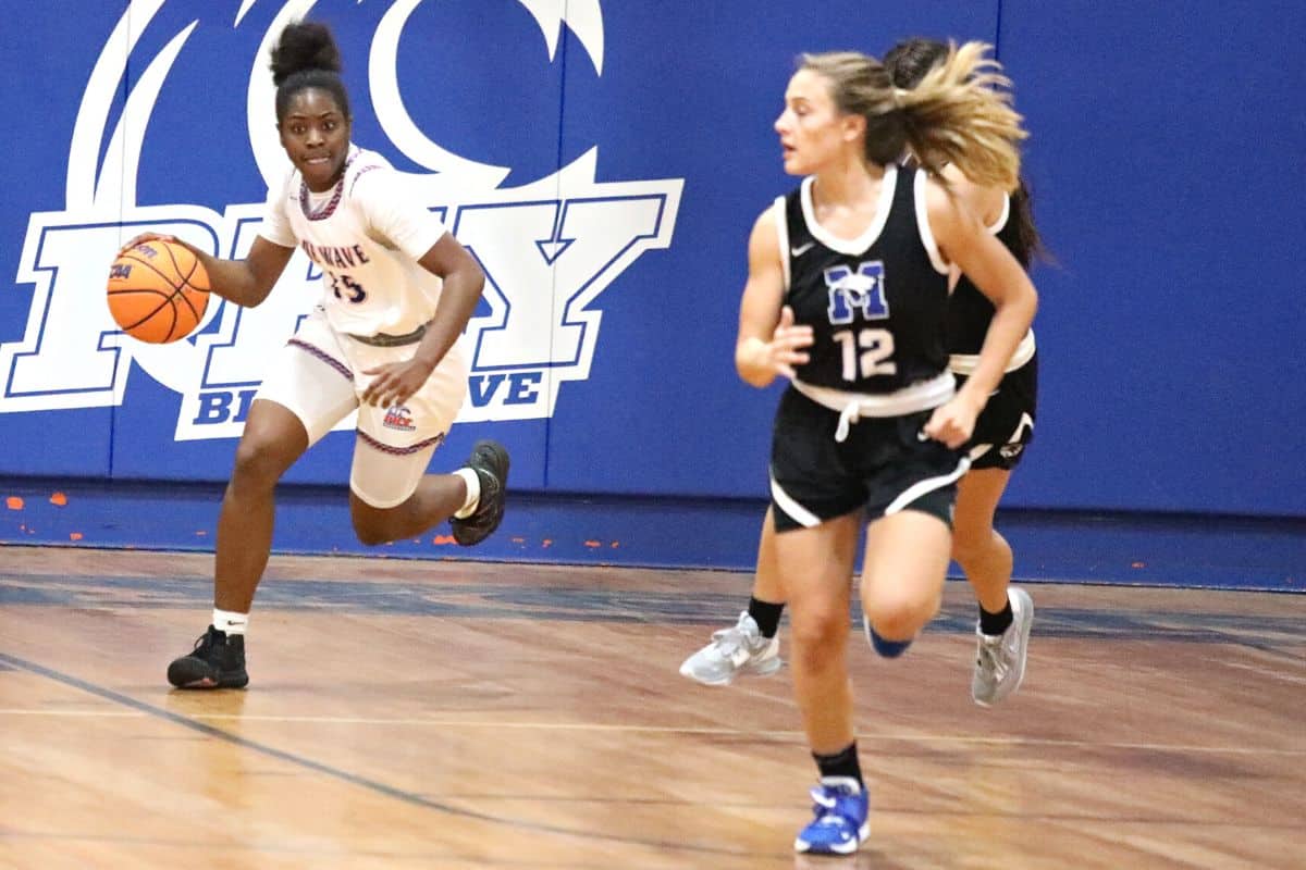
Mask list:
[[[952,524],[961,450],[922,440],[931,411],[862,417],[835,441],[838,412],[790,387],[780,398],[771,446],[776,531],[819,526],[862,509],[868,519],[921,510]]]

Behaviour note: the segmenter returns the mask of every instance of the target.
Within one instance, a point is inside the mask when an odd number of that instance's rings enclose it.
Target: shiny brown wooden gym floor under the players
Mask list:
[[[788,669],[677,673],[743,574],[278,557],[249,689],[171,691],[210,566],[0,548],[0,867],[1306,866],[1302,595],[1029,584],[994,710],[964,583],[854,633],[872,833],[815,860]]]

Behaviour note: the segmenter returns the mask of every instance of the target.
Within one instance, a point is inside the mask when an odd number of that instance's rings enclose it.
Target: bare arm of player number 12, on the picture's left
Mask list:
[[[735,370],[756,387],[769,386],[777,374],[794,376],[794,365],[807,361],[802,348],[812,343],[811,326],[794,325],[785,301],[785,273],[780,261],[776,206],[761,213],[748,236],[748,280],[739,301]]]

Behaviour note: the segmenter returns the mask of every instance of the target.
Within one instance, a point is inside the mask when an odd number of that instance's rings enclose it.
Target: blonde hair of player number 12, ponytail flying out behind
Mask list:
[[[855,51],[802,55],[799,69],[829,82],[841,112],[866,119],[867,160],[885,166],[910,149],[935,175],[951,163],[976,184],[1011,190],[1020,177],[1017,143],[1029,134],[1011,107],[1011,80],[985,56],[990,48],[949,43],[947,59],[910,90],[895,87],[880,61]]]

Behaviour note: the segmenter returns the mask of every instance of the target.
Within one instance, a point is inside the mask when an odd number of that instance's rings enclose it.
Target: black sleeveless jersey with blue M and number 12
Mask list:
[[[812,179],[784,198],[785,304],[815,334],[799,381],[887,394],[947,370],[948,275],[922,213],[923,184],[916,168],[884,167],[875,219],[853,240],[816,224]]]

